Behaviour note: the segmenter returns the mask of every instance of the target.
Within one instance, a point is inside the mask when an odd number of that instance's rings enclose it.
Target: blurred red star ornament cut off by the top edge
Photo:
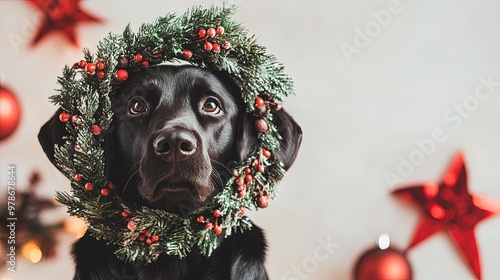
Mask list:
[[[30,0],[30,2],[40,9],[44,16],[42,25],[33,37],[32,46],[55,31],[62,32],[73,45],[78,46],[76,25],[79,22],[101,22],[97,17],[83,11],[79,0]]]

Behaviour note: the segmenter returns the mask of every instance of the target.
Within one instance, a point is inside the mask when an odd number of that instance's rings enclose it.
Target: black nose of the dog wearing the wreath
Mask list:
[[[165,160],[182,161],[196,153],[197,141],[188,131],[171,130],[158,134],[153,147],[156,154]]]

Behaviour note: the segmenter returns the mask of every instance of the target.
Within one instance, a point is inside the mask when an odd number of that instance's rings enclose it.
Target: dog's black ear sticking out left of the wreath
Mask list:
[[[43,151],[49,158],[50,162],[57,167],[54,158],[54,145],[59,146],[64,144],[63,135],[66,132],[66,124],[59,120],[59,115],[62,109],[59,109],[40,129],[38,132],[38,141],[42,145]]]

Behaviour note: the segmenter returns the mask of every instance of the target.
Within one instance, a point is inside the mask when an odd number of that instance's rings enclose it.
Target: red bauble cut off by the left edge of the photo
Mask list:
[[[0,86],[0,141],[12,135],[21,119],[21,107],[15,94]]]

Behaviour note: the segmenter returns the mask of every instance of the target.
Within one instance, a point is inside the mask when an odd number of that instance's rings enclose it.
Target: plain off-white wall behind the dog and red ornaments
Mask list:
[[[121,32],[129,22],[137,28],[193,4],[221,3],[173,2],[84,1],[85,10],[105,23],[78,25],[80,47],[95,50],[109,31]],[[498,1],[233,3],[240,6],[236,19],[257,34],[295,80],[297,95],[284,106],[304,131],[280,197],[265,211],[251,214],[266,230],[271,279],[293,279],[287,271],[294,266],[302,267],[303,279],[351,279],[357,258],[384,232],[393,246],[405,248],[420,210],[392,197],[391,190],[438,182],[458,150],[465,154],[470,192],[500,199]],[[388,6],[390,19],[377,23],[375,15]],[[26,185],[31,170],[41,170],[40,192],[50,196],[68,183],[46,160],[36,135],[55,111],[48,97],[57,88],[56,76],[82,55],[59,35],[29,47],[37,15],[27,1],[0,2],[1,82],[20,99],[23,113],[16,134],[0,143],[0,185],[6,186],[7,164],[15,163],[20,186]],[[371,37],[363,41],[357,30],[366,34],[366,28]],[[9,39],[12,34],[24,39],[15,44]],[[347,44],[356,52],[343,53],[340,46]],[[497,85],[474,103],[481,77]],[[466,114],[454,112],[456,106],[465,106]],[[443,117],[446,114],[453,121]],[[408,160],[418,150],[416,141],[431,137],[435,129],[441,129],[446,140],[436,143],[422,164],[414,164],[414,171],[402,176],[404,181],[389,183],[385,174],[398,174],[401,158]],[[499,279],[500,217],[480,222],[476,237],[483,279]],[[21,261],[16,274],[1,271],[0,279],[71,279],[71,239],[61,238],[56,259],[36,265]],[[314,259],[321,246],[318,240],[337,244],[322,260]],[[408,259],[414,279],[474,279],[444,233],[412,248]]]

